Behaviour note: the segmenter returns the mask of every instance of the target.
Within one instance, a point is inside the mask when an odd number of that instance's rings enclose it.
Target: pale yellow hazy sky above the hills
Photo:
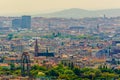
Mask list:
[[[0,0],[0,14],[49,12],[68,8],[120,8],[120,0]]]

